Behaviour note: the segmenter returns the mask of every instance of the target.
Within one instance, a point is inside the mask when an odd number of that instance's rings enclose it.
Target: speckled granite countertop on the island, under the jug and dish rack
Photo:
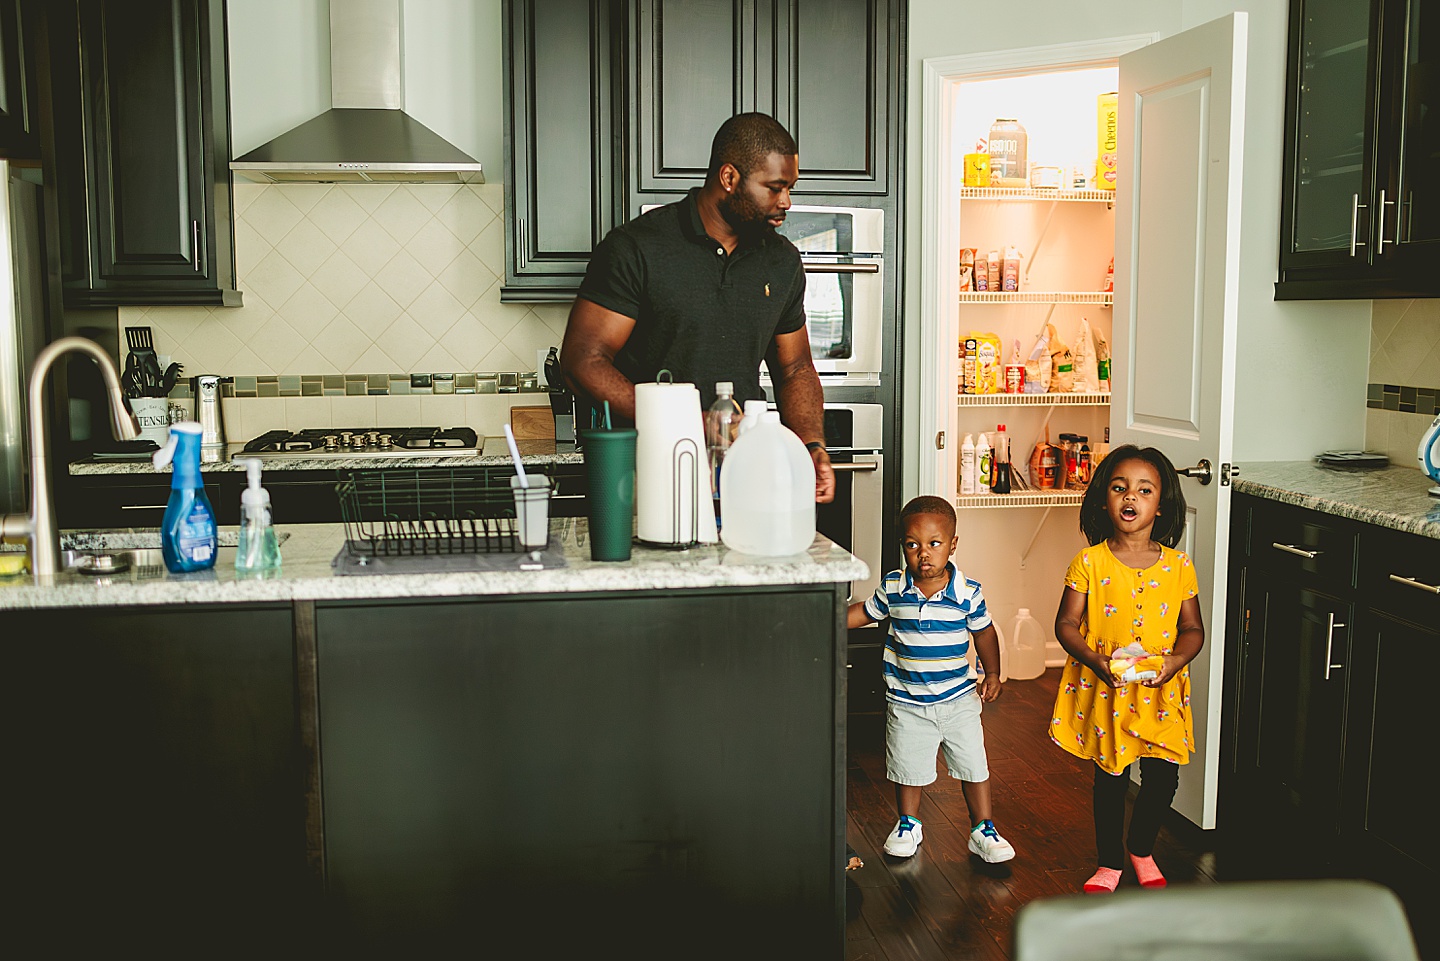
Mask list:
[[[531,555],[471,558],[471,571],[441,573],[338,575],[331,559],[346,540],[343,524],[284,524],[282,569],[271,576],[235,572],[235,552],[222,546],[212,571],[170,573],[163,566],[131,568],[124,573],[91,576],[68,571],[53,584],[37,585],[30,575],[0,578],[0,611],[7,608],[132,607],[168,604],[236,604],[366,598],[449,598],[505,594],[575,594],[595,591],[672,591],[685,588],[773,586],[864,581],[864,562],[816,535],[806,553],[756,558],[723,545],[688,550],[634,547],[629,560],[590,560],[588,522],[550,522],[546,566],[518,569]],[[222,527],[220,543],[235,543],[235,529]],[[66,532],[62,547],[109,549],[158,545],[150,532],[89,535]],[[491,569],[485,569],[485,568]]]

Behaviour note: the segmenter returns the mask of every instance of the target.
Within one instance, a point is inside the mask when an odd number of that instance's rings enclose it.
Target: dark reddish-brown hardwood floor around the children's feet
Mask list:
[[[1089,762],[1045,735],[1058,681],[1060,669],[1011,680],[985,706],[995,826],[1017,850],[1007,864],[969,853],[969,811],[943,769],[920,803],[919,853],[883,854],[896,821],[884,718],[850,719],[847,839],[865,866],[847,875],[848,961],[1007,961],[1015,912],[1037,898],[1079,892],[1094,872]],[[1172,885],[1214,883],[1215,857],[1202,833],[1174,818],[1161,830],[1156,863]],[[1126,873],[1120,883],[1135,879]]]

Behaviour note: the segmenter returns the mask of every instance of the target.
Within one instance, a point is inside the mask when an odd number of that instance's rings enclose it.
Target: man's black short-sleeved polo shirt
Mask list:
[[[660,370],[694,383],[710,406],[716,382],[737,403],[765,398],[760,362],[776,334],[805,326],[805,271],[779,233],[734,254],[706,235],[698,189],[611,231],[590,258],[580,297],[635,321],[615,366],[634,383]]]

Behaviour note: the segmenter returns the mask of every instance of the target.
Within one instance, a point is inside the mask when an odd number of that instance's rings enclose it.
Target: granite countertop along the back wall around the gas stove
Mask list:
[[[324,454],[307,457],[295,454],[288,457],[264,457],[265,471],[334,471],[334,470],[387,470],[397,467],[494,467],[510,464],[510,451],[503,437],[482,438],[481,450],[465,450],[454,454],[425,454],[420,457],[405,457],[400,454],[386,457],[346,457],[344,454]],[[543,464],[583,464],[585,455],[575,450],[573,442],[564,441],[517,441],[520,461],[530,465]],[[243,444],[229,444],[225,460],[207,461],[200,465],[202,471],[235,471],[243,473],[245,462],[232,460],[242,454]],[[72,461],[71,475],[85,474],[154,474],[150,454],[135,454],[130,457],[92,457],[84,461]],[[168,473],[168,468],[163,473]]]

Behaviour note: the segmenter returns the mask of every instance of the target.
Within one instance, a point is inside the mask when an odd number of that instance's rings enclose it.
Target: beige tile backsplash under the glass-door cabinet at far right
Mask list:
[[[1377,300],[1371,310],[1365,447],[1416,467],[1440,412],[1440,300]]]

